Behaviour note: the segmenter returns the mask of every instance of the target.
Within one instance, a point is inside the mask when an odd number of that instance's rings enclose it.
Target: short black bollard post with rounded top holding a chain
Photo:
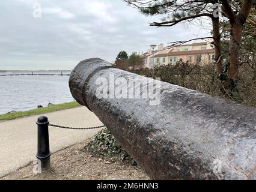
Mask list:
[[[49,121],[46,116],[37,119],[37,159],[41,170],[50,169]],[[39,167],[38,167],[39,168]]]

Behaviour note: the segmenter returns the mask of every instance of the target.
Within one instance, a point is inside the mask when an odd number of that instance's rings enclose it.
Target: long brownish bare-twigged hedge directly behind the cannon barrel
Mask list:
[[[178,61],[175,64],[156,65],[154,70],[134,72],[145,77],[160,77],[163,82],[256,107],[256,68],[246,65],[239,68],[236,89],[224,88],[225,82],[217,76],[215,64],[197,65]]]

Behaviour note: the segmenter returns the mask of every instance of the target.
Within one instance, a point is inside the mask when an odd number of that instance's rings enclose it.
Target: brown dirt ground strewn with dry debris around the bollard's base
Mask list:
[[[31,163],[1,179],[149,179],[139,166],[126,162],[111,162],[93,157],[85,151],[87,142],[78,143],[51,155],[51,169],[42,174],[33,173]]]

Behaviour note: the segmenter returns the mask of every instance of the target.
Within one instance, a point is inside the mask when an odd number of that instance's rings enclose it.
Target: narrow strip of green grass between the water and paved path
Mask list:
[[[70,103],[62,103],[62,104],[56,104],[56,105],[49,106],[49,107],[32,109],[32,110],[28,110],[26,112],[14,112],[14,113],[0,115],[0,121],[22,118],[24,116],[41,115],[44,113],[56,112],[58,110],[70,109],[70,108],[74,108],[74,107],[78,107],[78,106],[80,106],[80,104],[76,101],[73,101]]]

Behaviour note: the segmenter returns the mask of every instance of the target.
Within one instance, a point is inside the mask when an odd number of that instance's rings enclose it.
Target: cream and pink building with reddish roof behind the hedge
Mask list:
[[[181,59],[191,64],[208,64],[215,60],[215,49],[207,42],[183,44],[176,47],[163,47],[163,44],[159,44],[154,54],[149,49],[147,53],[141,55],[146,68],[153,68],[153,56],[154,65],[175,63]]]

